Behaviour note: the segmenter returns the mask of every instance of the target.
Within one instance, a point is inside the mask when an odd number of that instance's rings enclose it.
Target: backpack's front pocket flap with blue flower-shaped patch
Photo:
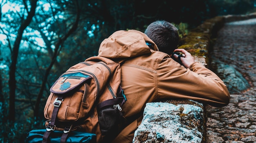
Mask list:
[[[67,93],[91,79],[91,76],[84,74],[83,72],[65,72],[52,85],[50,92],[58,94]]]

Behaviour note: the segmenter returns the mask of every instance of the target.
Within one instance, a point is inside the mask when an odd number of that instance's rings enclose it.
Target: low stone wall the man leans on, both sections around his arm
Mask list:
[[[256,18],[248,15],[217,16],[206,20],[181,39],[181,46],[195,55],[195,61],[208,67],[212,39],[226,22]],[[205,143],[206,119],[204,106],[192,100],[168,100],[146,104],[141,125],[133,143]]]

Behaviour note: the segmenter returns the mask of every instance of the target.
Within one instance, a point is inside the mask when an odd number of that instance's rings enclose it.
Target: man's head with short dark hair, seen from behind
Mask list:
[[[178,29],[164,20],[152,22],[144,33],[155,42],[159,51],[167,54],[172,54],[179,43]]]

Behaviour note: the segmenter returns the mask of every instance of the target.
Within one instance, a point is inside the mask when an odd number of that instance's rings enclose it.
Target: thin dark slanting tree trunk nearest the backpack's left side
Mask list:
[[[79,8],[79,4],[78,1],[76,0],[76,7],[77,7],[77,14],[76,14],[76,21],[73,24],[72,28],[70,28],[70,30],[66,33],[66,35],[64,35],[63,37],[61,37],[57,43],[55,44],[55,49],[54,49],[54,54],[52,56],[52,60],[50,65],[47,67],[46,71],[45,71],[45,76],[44,76],[44,80],[41,84],[40,87],[40,91],[38,93],[37,99],[36,99],[36,104],[35,104],[35,110],[34,110],[34,117],[36,119],[38,119],[38,113],[39,113],[39,104],[40,104],[40,100],[43,96],[43,91],[45,89],[45,84],[47,82],[47,77],[49,76],[50,70],[52,69],[52,66],[54,65],[56,58],[58,56],[58,53],[60,52],[60,48],[61,45],[64,43],[64,41],[67,39],[67,37],[69,37],[72,32],[76,31],[76,28],[78,27],[78,23],[79,23],[79,18],[80,18],[80,8]]]

